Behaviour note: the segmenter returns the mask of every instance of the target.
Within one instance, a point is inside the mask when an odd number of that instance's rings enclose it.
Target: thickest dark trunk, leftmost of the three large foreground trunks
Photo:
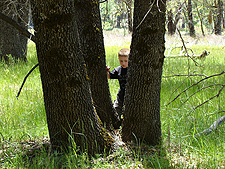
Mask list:
[[[113,140],[92,105],[74,2],[31,2],[51,144],[56,150],[75,143],[89,154],[103,152]]]

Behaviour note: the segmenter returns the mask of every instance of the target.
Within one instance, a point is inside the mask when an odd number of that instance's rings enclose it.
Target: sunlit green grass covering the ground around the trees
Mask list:
[[[118,151],[112,158],[88,159],[85,153],[71,151],[67,157],[49,155],[43,151],[34,157],[36,142],[45,142],[48,138],[47,122],[38,69],[29,76],[19,99],[16,98],[19,87],[28,71],[37,63],[35,46],[29,43],[28,63],[6,65],[0,63],[0,166],[2,168],[225,168],[225,124],[221,124],[209,135],[194,137],[195,134],[210,127],[219,117],[225,115],[224,90],[218,97],[203,106],[199,104],[216,95],[224,84],[225,76],[216,76],[193,86],[178,99],[167,105],[188,86],[204,76],[224,71],[225,48],[223,37],[184,37],[187,47],[196,55],[204,49],[210,52],[205,59],[196,60],[199,66],[188,58],[165,58],[161,92],[161,122],[163,137],[163,156],[143,155],[139,149],[130,157],[126,151]],[[119,65],[117,52],[129,47],[130,35],[126,37],[105,33],[107,65],[111,69]],[[179,37],[166,37],[166,47],[181,46]],[[167,50],[167,54],[168,54]],[[174,50],[176,54],[179,51]],[[177,76],[186,75],[186,76]],[[112,99],[118,92],[118,82],[110,80]],[[190,97],[199,89],[194,96]],[[190,97],[190,98],[189,98]],[[21,142],[26,141],[26,144]],[[21,143],[21,144],[19,144]],[[26,149],[26,151],[21,151]],[[148,152],[148,151],[147,151]],[[142,154],[142,155],[141,155]],[[33,161],[29,161],[32,157]]]

